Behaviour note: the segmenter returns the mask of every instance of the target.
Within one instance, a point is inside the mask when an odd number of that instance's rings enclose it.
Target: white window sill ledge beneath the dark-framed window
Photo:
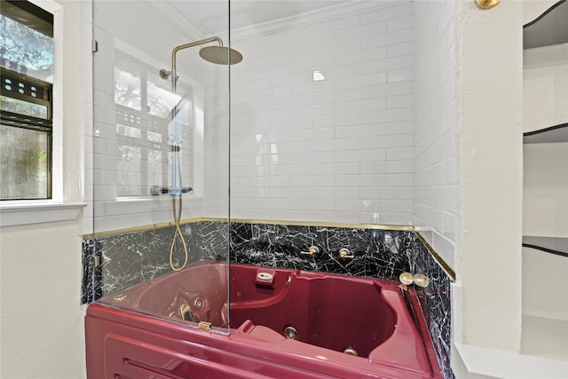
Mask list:
[[[86,202],[10,201],[0,203],[0,227],[75,220]]]

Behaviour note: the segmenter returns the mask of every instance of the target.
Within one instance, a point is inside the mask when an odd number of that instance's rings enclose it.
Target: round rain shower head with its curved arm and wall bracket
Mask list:
[[[202,59],[205,59],[208,62],[215,63],[217,65],[227,65],[227,64],[236,65],[237,63],[241,62],[242,54],[239,51],[223,46],[223,40],[217,36],[209,37],[202,39],[200,41],[180,44],[179,46],[174,47],[174,50],[171,51],[171,71],[162,68],[160,70],[160,77],[162,79],[168,79],[170,76],[172,76],[171,83],[173,83],[175,89],[177,83],[177,75],[176,75],[177,51],[211,42],[217,42],[218,46],[203,47],[199,51],[199,55],[201,56]]]

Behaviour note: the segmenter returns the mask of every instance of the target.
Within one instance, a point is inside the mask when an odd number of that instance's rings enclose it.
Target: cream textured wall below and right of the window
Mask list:
[[[62,138],[59,201],[82,201],[83,151],[76,146],[83,144],[87,116],[83,68],[90,43],[83,44],[82,32],[91,17],[90,6],[75,1],[36,3],[55,12],[55,50],[61,54],[56,57],[56,75],[65,74],[56,77],[56,83],[62,78],[62,88],[54,88],[63,101],[54,115],[62,127],[54,131]],[[82,220],[81,213],[67,221],[0,229],[1,377],[85,377],[84,309],[79,304]]]

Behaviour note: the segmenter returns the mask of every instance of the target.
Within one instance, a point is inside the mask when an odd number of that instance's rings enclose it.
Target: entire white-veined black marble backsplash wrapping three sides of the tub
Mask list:
[[[188,264],[201,259],[313,272],[398,280],[402,272],[422,273],[427,288],[417,288],[438,362],[446,378],[450,368],[450,278],[416,233],[317,225],[272,225],[198,221],[181,225]],[[83,304],[171,272],[173,227],[117,233],[83,241]],[[178,240],[178,238],[177,238]],[[311,247],[316,255],[302,254]],[[347,249],[348,258],[339,251]],[[185,260],[178,240],[172,261]]]

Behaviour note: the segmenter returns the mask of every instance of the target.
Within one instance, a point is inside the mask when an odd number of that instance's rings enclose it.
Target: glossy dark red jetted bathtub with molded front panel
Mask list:
[[[85,329],[93,379],[443,377],[391,280],[201,261],[91,304]]]

